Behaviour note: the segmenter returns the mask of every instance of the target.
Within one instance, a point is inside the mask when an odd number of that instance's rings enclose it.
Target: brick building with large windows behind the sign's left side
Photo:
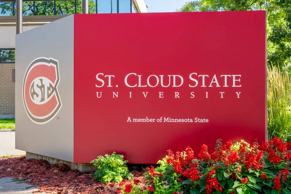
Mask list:
[[[43,1],[47,1],[46,4]],[[23,0],[23,32],[69,14],[81,14],[81,0]],[[64,7],[62,10],[62,2]],[[66,4],[65,4],[66,3]],[[16,0],[0,1],[0,119],[15,118]],[[72,7],[68,7],[68,6]],[[39,6],[39,7],[38,7]],[[44,7],[47,6],[47,7]],[[7,8],[8,7],[8,8]],[[48,11],[49,10],[49,11]],[[73,12],[73,13],[71,13]],[[145,13],[145,0],[90,0],[89,14]],[[45,15],[44,15],[45,13]],[[44,37],[45,38],[45,37]],[[33,43],[32,43],[33,44]]]

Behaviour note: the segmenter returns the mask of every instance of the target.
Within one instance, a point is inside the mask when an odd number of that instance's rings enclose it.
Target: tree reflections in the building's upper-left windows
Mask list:
[[[77,0],[77,14],[82,13],[82,1]],[[15,2],[4,1],[0,2],[1,14],[10,13],[13,15]],[[45,15],[72,15],[75,14],[75,0],[43,0],[43,1],[23,1],[22,4],[23,16],[45,16]],[[89,14],[96,13],[96,4],[94,0],[89,0]]]

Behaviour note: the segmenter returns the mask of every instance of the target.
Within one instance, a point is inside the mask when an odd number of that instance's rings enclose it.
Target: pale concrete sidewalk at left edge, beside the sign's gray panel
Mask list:
[[[15,149],[15,131],[0,130],[0,157],[25,153],[25,151]]]

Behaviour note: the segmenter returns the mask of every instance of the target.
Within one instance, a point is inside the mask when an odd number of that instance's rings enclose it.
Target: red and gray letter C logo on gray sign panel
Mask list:
[[[22,97],[25,111],[34,123],[48,123],[60,111],[59,82],[59,62],[53,58],[34,59],[27,68]]]

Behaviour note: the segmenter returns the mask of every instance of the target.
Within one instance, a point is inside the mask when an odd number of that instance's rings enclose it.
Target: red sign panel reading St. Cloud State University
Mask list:
[[[74,162],[266,140],[264,11],[74,18]]]

